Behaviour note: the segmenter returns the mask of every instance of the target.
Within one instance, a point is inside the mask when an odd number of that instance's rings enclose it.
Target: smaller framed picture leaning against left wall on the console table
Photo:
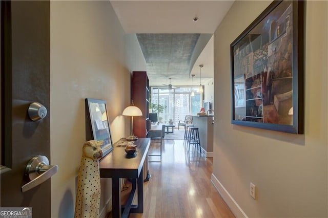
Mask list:
[[[113,150],[106,101],[86,98],[86,140],[103,140],[103,157]]]

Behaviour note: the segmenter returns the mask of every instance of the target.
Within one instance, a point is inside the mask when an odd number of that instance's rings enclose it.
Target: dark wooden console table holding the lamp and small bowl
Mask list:
[[[112,213],[114,218],[128,217],[129,213],[144,212],[143,167],[146,158],[148,158],[150,138],[139,138],[135,144],[137,145],[137,152],[134,158],[126,158],[124,147],[118,147],[115,143],[113,151],[99,161],[100,177],[112,178]],[[132,179],[132,190],[125,205],[121,205],[120,178]],[[136,186],[138,187],[138,204],[132,205]]]

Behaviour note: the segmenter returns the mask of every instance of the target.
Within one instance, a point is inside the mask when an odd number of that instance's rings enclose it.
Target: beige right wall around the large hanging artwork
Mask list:
[[[236,1],[214,34],[212,179],[238,215],[232,199],[249,217],[327,217],[328,2],[306,2],[304,134],[231,124],[230,43],[270,3]]]

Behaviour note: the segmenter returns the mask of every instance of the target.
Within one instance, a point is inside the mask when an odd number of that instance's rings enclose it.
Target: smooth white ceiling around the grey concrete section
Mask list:
[[[234,1],[110,1],[127,33],[210,33],[213,34]],[[195,22],[194,17],[198,17]],[[202,84],[213,78],[213,37],[195,60],[190,75],[195,74],[194,84],[199,83],[199,64]],[[189,79],[174,81],[173,85],[191,85]],[[162,85],[150,77],[151,85]]]

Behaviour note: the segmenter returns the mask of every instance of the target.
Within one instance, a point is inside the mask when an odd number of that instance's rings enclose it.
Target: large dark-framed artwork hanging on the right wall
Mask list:
[[[303,134],[304,2],[274,1],[231,43],[232,123]]]

